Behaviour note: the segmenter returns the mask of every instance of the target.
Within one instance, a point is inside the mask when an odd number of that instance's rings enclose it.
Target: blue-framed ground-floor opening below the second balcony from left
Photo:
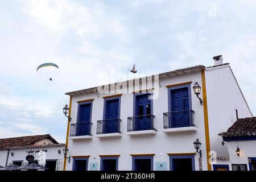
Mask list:
[[[118,171],[118,156],[101,157],[101,171]]]

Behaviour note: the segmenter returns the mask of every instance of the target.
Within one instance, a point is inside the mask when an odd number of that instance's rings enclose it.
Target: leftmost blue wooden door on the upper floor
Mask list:
[[[77,135],[90,134],[90,107],[91,104],[80,105]]]

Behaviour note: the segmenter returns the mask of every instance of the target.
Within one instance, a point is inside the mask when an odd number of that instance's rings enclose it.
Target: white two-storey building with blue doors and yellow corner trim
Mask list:
[[[237,114],[253,115],[230,65],[222,63],[222,56],[213,59],[213,67],[198,65],[66,93],[71,160],[64,161],[64,170],[212,170],[211,154],[229,158],[217,134]],[[193,91],[196,82],[202,105]],[[202,160],[193,146],[197,138]]]

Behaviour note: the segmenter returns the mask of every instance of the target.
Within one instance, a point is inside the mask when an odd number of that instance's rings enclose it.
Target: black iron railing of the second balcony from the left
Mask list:
[[[97,121],[97,134],[121,133],[121,119],[104,119]]]

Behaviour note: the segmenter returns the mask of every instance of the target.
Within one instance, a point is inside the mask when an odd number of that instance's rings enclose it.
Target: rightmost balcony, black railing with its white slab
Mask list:
[[[172,111],[163,113],[164,133],[197,131],[193,110]]]

